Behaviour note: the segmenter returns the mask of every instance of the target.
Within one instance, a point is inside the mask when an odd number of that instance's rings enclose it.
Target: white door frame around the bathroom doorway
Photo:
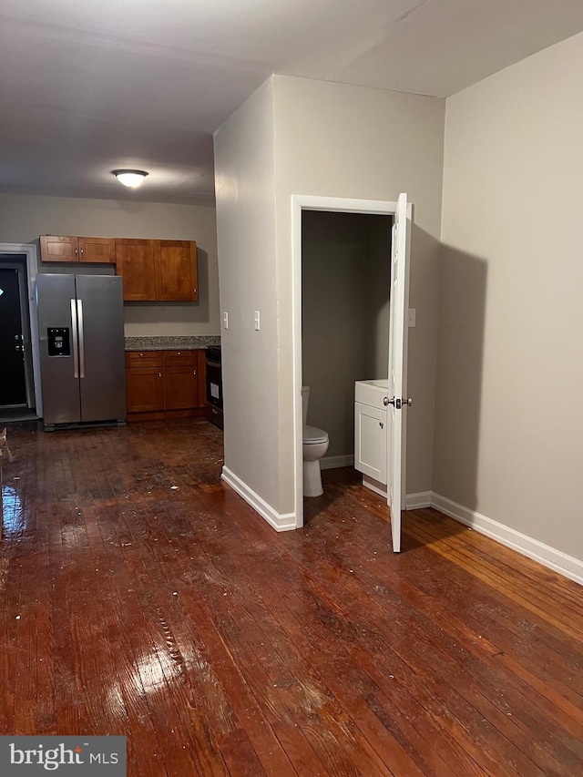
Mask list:
[[[294,514],[295,527],[303,526],[303,418],[302,418],[302,210],[323,210],[335,213],[362,213],[372,216],[394,216],[396,200],[353,199],[343,197],[319,197],[315,195],[292,195],[292,381],[293,381],[293,423],[294,435]],[[412,219],[412,203],[407,204],[407,220]],[[408,230],[410,232],[410,230]],[[408,253],[408,251],[407,251]],[[390,266],[391,256],[387,257]],[[408,276],[407,276],[408,282]],[[405,297],[407,299],[407,297]],[[404,388],[406,387],[407,330],[404,332]],[[406,395],[406,394],[404,394]],[[403,428],[406,444],[406,416]],[[403,450],[403,480],[405,469]],[[404,500],[404,488],[402,490]]]

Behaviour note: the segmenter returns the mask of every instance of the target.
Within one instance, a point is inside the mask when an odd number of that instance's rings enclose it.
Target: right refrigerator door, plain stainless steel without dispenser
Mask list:
[[[126,366],[122,279],[76,275],[81,421],[124,421]]]

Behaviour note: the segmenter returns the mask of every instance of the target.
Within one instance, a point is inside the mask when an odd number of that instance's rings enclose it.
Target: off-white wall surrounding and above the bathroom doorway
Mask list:
[[[282,461],[281,508],[292,509],[293,194],[414,203],[409,332],[407,491],[431,488],[445,101],[276,76],[275,170]]]

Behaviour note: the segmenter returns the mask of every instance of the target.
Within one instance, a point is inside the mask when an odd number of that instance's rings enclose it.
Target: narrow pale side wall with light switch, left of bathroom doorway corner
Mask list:
[[[279,504],[273,95],[267,81],[215,135],[224,388],[223,474]],[[261,329],[254,330],[254,311]]]

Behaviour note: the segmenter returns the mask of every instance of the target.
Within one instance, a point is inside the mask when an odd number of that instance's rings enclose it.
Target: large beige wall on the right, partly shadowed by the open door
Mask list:
[[[447,100],[434,490],[583,559],[583,35]]]

